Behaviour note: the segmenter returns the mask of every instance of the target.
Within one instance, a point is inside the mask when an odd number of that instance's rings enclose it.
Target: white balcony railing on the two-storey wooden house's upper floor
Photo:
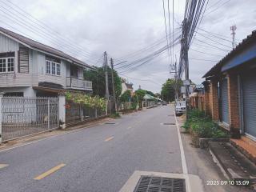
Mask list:
[[[78,89],[78,90],[92,90],[92,82],[79,79],[79,78],[67,77],[66,87],[70,89]]]

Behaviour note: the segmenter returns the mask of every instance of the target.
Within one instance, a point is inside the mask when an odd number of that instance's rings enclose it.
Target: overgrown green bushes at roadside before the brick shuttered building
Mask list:
[[[199,146],[199,138],[229,138],[229,135],[217,123],[198,109],[189,111],[183,128],[192,135],[194,146]]]

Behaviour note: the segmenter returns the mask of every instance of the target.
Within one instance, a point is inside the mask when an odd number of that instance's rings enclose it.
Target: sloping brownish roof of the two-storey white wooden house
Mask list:
[[[23,36],[21,34],[16,34],[13,31],[6,30],[5,28],[2,28],[2,27],[0,27],[0,33],[6,34],[6,35],[10,36],[11,38],[18,40],[19,42],[23,42],[26,46],[30,46],[31,49],[41,50],[48,54],[54,54],[55,56],[65,58],[66,60],[70,60],[70,62],[74,62],[74,63],[80,64],[82,66],[94,69],[93,66],[90,66],[90,65],[86,64],[86,62],[82,62],[81,60],[62,52],[61,50],[57,50],[57,49],[54,49],[53,47],[46,46],[40,42],[36,42],[36,41],[32,40],[31,38],[26,38],[25,36]]]

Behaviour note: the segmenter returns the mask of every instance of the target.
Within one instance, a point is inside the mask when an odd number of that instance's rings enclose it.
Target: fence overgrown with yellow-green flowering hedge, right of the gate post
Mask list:
[[[81,93],[66,92],[66,122],[82,122],[106,115],[106,100]]]

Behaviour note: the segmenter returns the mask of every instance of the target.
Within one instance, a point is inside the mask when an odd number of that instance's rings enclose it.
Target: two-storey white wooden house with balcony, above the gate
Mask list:
[[[83,70],[93,66],[60,50],[0,27],[0,91],[6,96],[56,96],[92,91]]]

